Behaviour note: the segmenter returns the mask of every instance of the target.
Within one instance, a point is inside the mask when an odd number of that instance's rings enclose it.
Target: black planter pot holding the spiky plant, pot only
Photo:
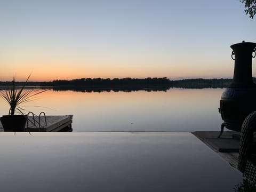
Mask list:
[[[3,115],[0,121],[3,125],[4,131],[22,132],[25,131],[27,123],[27,115]]]

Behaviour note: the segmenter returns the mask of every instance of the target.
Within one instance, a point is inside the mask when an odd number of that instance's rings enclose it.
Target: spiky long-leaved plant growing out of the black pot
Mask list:
[[[28,76],[25,84],[28,82],[29,77]],[[22,113],[21,105],[24,103],[27,103],[29,101],[37,99],[36,96],[42,92],[45,92],[46,90],[24,90],[25,85],[18,87],[16,85],[16,79],[15,76],[13,76],[12,86],[8,87],[6,90],[0,90],[0,97],[2,97],[10,106],[9,109],[9,115],[14,115],[15,113],[19,112]]]

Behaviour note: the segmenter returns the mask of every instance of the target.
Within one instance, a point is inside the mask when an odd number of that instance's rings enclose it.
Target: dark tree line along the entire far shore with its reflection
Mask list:
[[[79,90],[79,91],[92,91],[92,90],[122,90],[122,91],[135,91],[135,90],[168,90],[172,87],[190,88],[190,89],[203,89],[203,88],[224,88],[228,87],[232,79],[228,78],[214,78],[214,79],[183,79],[172,81],[166,77],[148,77],[148,78],[80,78],[72,80],[54,80],[50,82],[27,82],[26,85],[33,86],[51,86],[54,90]],[[256,82],[256,78],[253,78]],[[16,82],[17,86],[22,86],[25,82]],[[12,82],[0,82],[0,86],[11,86]]]

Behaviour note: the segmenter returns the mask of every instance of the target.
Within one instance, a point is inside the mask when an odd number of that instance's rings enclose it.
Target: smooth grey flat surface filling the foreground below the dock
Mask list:
[[[1,191],[234,191],[242,174],[191,133],[0,133]]]

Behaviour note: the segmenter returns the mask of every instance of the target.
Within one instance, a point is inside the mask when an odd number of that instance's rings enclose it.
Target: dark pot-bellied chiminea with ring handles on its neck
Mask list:
[[[235,60],[234,77],[231,85],[222,93],[219,112],[224,127],[241,131],[244,119],[256,110],[256,85],[252,81],[252,58],[256,43],[242,42],[230,46],[231,58]],[[234,58],[235,56],[235,58]]]

